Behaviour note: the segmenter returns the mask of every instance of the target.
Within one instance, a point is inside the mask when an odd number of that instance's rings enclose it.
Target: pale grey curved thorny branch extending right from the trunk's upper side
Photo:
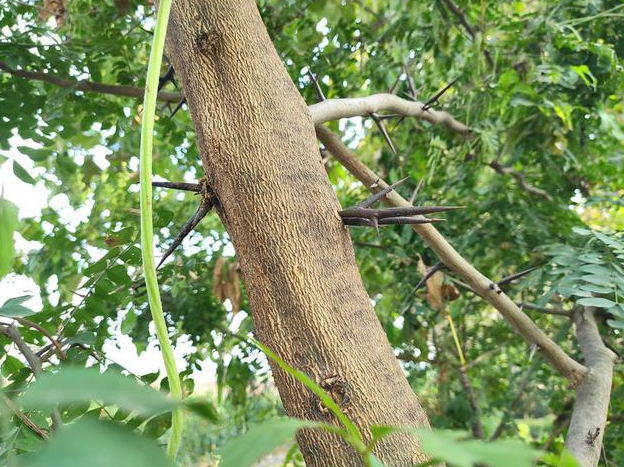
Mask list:
[[[470,132],[466,125],[455,120],[448,112],[423,110],[423,106],[422,102],[401,99],[394,94],[373,94],[367,97],[328,99],[312,104],[308,109],[315,124],[378,112],[392,112],[406,117],[417,117],[433,124],[442,124],[457,133]]]

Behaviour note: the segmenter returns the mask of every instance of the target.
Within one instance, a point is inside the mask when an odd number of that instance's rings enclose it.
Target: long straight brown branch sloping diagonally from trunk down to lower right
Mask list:
[[[315,129],[325,148],[364,186],[371,191],[379,191],[388,186],[377,174],[357,159],[356,155],[331,130],[324,125],[316,125]],[[388,193],[385,201],[387,204],[396,207],[411,206],[396,191]],[[583,381],[588,371],[587,368],[569,357],[498,287],[492,287],[494,283],[466,261],[434,226],[418,224],[413,225],[412,228],[438,255],[440,260],[466,281],[472,290],[496,308],[518,334],[527,342],[537,345],[546,361],[567,378],[573,387],[577,387]]]

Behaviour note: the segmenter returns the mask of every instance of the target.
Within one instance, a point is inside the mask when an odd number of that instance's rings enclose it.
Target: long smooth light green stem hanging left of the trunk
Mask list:
[[[171,396],[176,400],[182,400],[182,386],[176,368],[175,359],[167,324],[163,314],[158,279],[156,277],[156,263],[154,261],[154,226],[152,223],[152,148],[154,136],[154,114],[156,112],[156,97],[158,94],[158,77],[162,64],[163,50],[165,48],[165,36],[171,0],[161,0],[158,8],[156,27],[154,29],[154,41],[150,52],[147,67],[147,81],[145,83],[145,98],[143,101],[143,124],[141,126],[141,252],[143,255],[143,274],[147,287],[147,299],[149,302],[152,318],[156,326],[156,336],[160,344],[161,353],[169,378]],[[171,423],[171,437],[167,446],[167,454],[175,458],[180,440],[182,439],[182,411],[174,409]]]

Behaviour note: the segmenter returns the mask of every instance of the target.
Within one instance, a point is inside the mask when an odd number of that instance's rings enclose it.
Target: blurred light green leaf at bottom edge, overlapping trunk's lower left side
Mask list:
[[[296,418],[275,418],[251,425],[244,434],[229,440],[219,450],[219,467],[250,467],[259,459],[314,423]]]

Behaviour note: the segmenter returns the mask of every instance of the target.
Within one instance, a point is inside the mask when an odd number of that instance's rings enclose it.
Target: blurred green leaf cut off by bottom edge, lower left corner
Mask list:
[[[130,430],[84,418],[65,426],[19,467],[173,467],[162,449]]]

